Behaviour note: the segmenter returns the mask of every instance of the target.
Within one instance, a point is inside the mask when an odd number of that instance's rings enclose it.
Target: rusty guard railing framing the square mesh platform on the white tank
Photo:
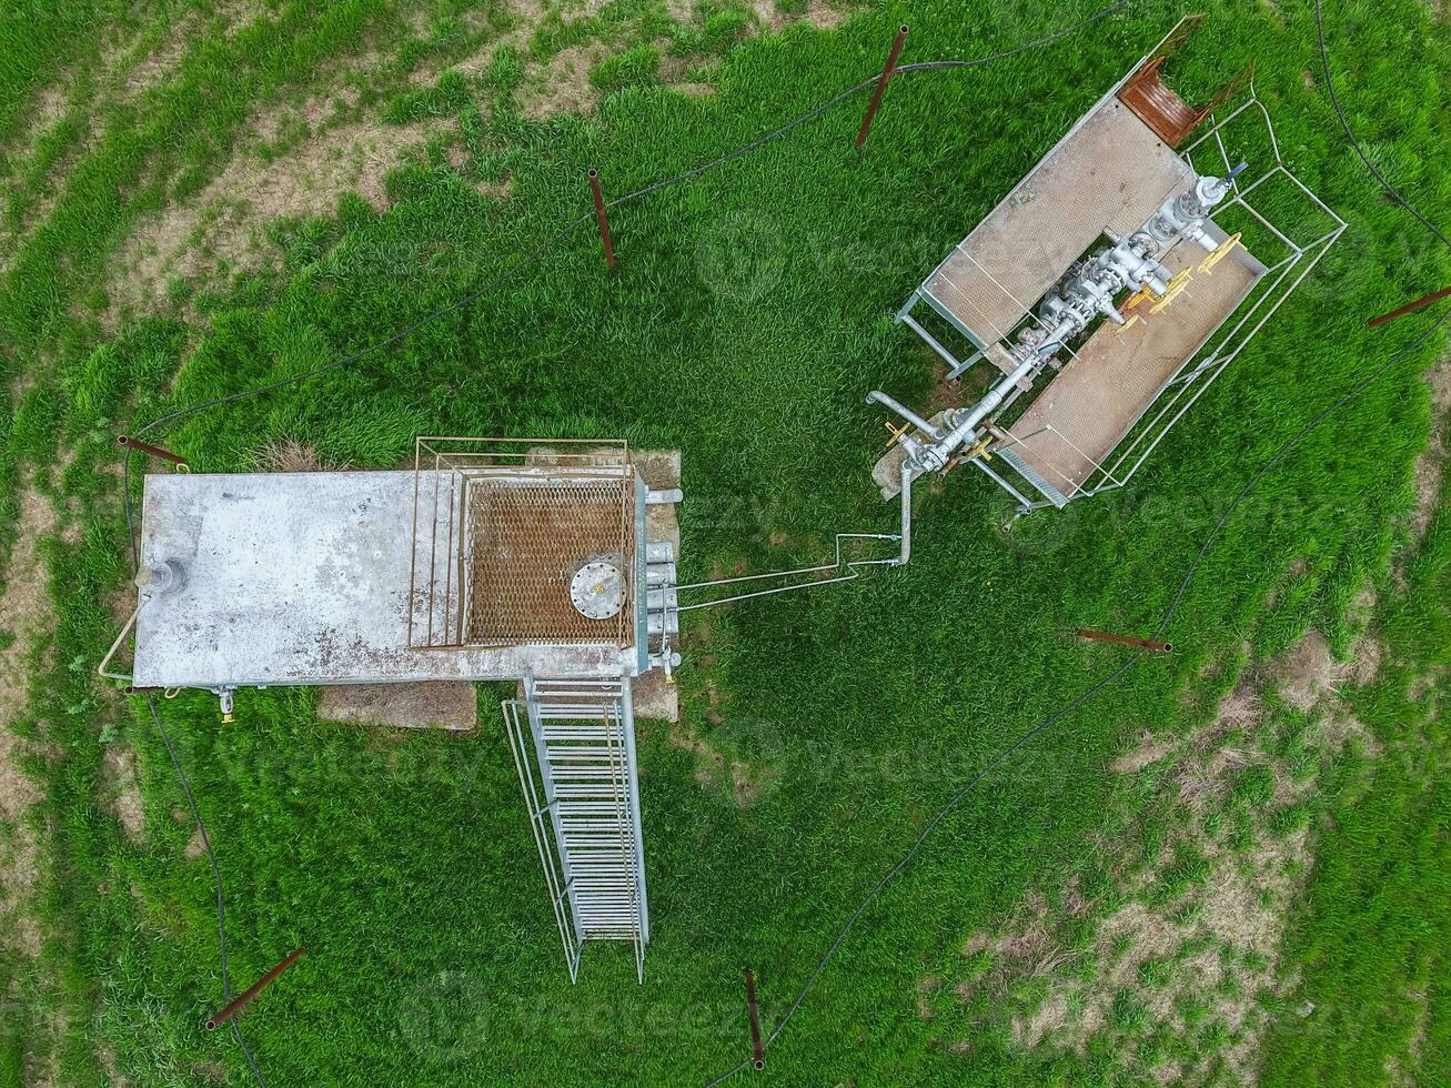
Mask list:
[[[531,460],[538,448],[550,463]],[[503,646],[548,644],[547,638],[469,638],[473,586],[469,577],[473,527],[470,489],[489,482],[604,482],[621,483],[618,551],[630,554],[640,506],[630,444],[605,438],[463,438],[419,437],[414,444],[414,537],[409,563],[408,647],[411,650],[486,650]],[[628,563],[625,606],[612,635],[630,646],[637,631],[636,567]]]

